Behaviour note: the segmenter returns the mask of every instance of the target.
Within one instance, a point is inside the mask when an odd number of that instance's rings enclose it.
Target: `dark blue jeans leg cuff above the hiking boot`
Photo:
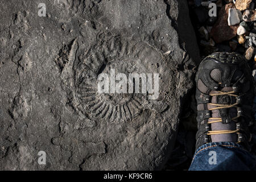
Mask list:
[[[256,159],[240,144],[213,142],[199,147],[189,171],[256,170]]]

